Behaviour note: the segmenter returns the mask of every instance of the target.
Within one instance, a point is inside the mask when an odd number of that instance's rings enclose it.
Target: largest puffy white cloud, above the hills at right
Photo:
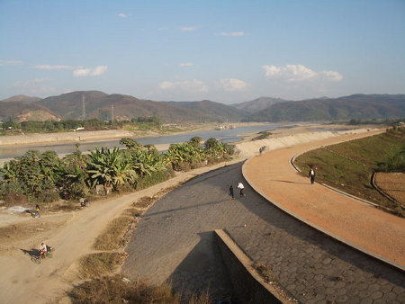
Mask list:
[[[286,65],[284,67],[263,66],[266,78],[282,79],[287,82],[301,82],[312,80],[340,81],[343,76],[335,71],[316,72],[302,65]]]

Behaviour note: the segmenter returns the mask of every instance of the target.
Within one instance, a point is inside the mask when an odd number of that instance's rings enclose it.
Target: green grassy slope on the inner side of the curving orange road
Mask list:
[[[403,153],[404,143],[405,128],[401,128],[313,150],[298,156],[295,164],[305,175],[311,166],[316,167],[316,181],[319,183],[329,184],[403,215],[393,201],[374,189],[371,177],[374,172],[383,171],[392,158]]]

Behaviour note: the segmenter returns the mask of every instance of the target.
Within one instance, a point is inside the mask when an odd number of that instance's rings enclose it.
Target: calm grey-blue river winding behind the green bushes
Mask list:
[[[201,131],[193,131],[189,133],[183,134],[175,134],[175,135],[166,135],[166,136],[159,136],[159,137],[150,137],[150,138],[134,138],[141,144],[153,144],[153,145],[160,145],[160,144],[175,144],[179,142],[188,141],[192,139],[194,136],[198,136],[202,138],[202,140],[206,140],[209,138],[218,139],[224,143],[230,142],[238,142],[242,139],[243,134],[259,132],[263,130],[277,130],[281,128],[285,128],[285,124],[282,123],[266,123],[262,125],[255,125],[255,126],[243,126],[237,127],[235,129],[229,130],[201,130]],[[98,141],[98,142],[83,142],[80,143],[80,150],[81,151],[93,151],[96,147],[98,148],[125,148],[124,146],[120,145],[120,139],[114,140],[107,140],[107,141]],[[45,151],[55,151],[57,154],[67,154],[76,151],[75,143],[68,143],[68,144],[60,144],[60,145],[39,145],[39,146],[0,146],[0,159],[4,158],[14,158],[17,156],[23,156],[25,152],[28,150],[38,150],[41,153]]]

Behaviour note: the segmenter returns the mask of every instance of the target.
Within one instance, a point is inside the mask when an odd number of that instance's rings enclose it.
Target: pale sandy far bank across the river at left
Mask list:
[[[1,136],[0,145],[37,145],[41,143],[81,142],[85,140],[121,139],[132,137],[126,130],[78,131],[64,133]]]

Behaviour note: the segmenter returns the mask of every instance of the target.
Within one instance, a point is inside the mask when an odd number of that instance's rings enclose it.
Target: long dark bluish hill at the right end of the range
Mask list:
[[[405,117],[405,94],[354,94],[275,103],[244,121],[348,121]]]

